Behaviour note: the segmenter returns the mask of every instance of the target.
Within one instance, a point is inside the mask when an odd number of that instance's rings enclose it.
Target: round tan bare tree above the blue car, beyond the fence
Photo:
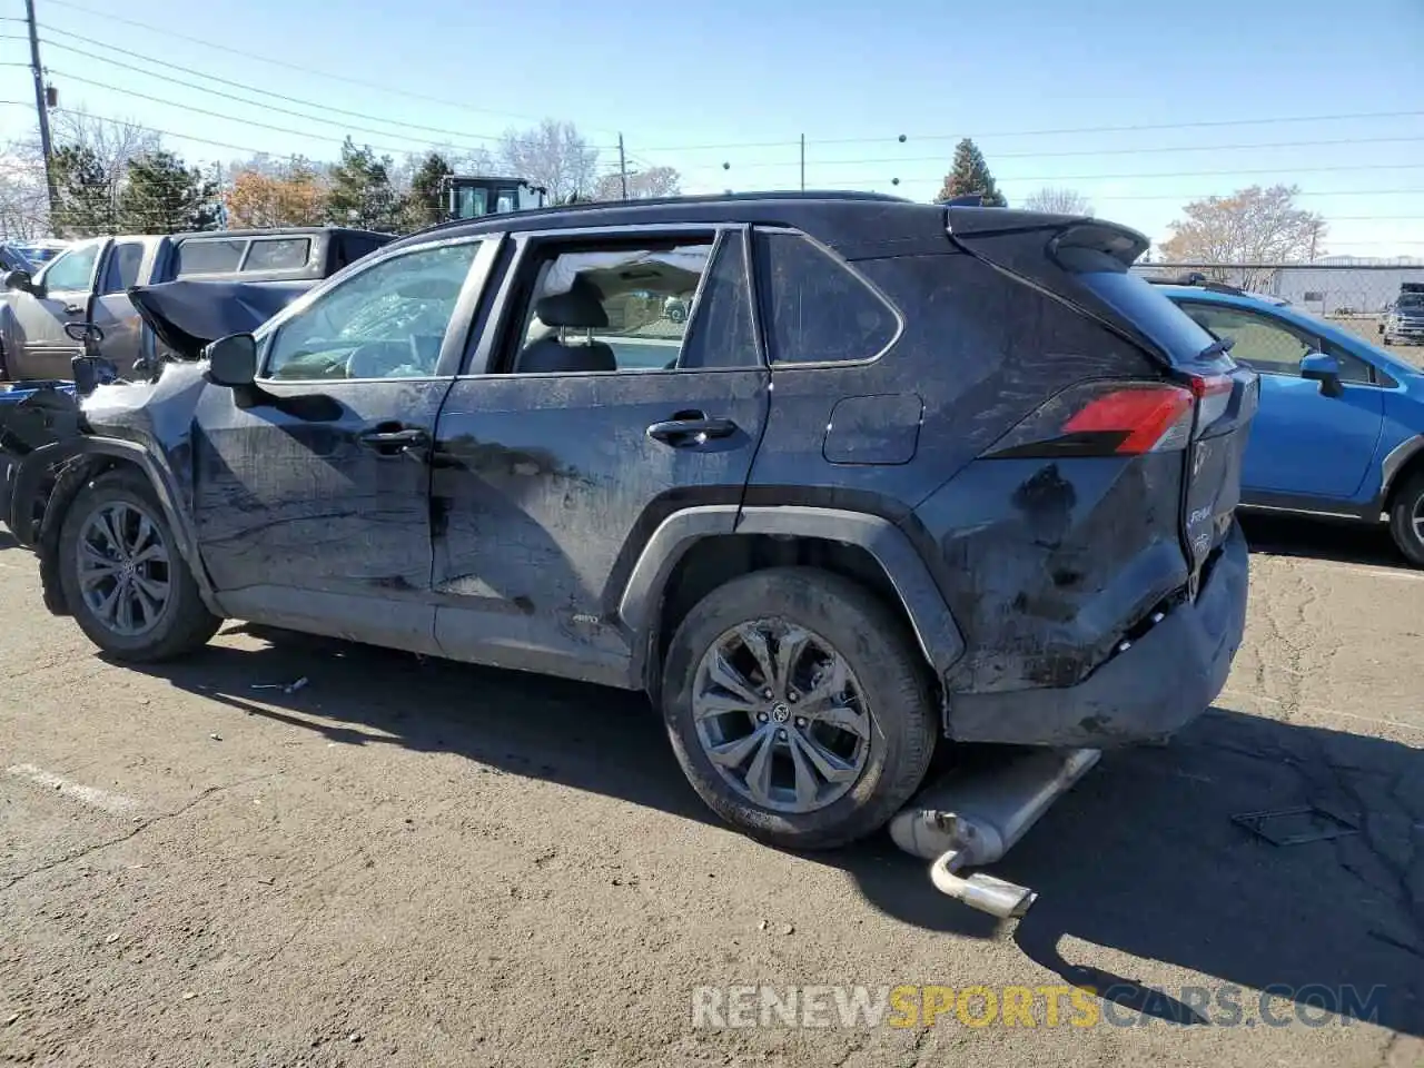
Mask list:
[[[1242,285],[1253,288],[1270,263],[1304,263],[1324,252],[1326,221],[1296,206],[1294,185],[1252,185],[1230,197],[1192,201],[1162,242],[1166,263],[1246,265]],[[1208,272],[1212,273],[1212,272]]]

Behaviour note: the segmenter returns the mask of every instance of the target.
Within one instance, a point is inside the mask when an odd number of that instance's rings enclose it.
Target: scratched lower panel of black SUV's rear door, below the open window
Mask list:
[[[759,369],[457,380],[433,457],[441,649],[625,684],[619,562],[679,507],[740,503],[766,403]],[[648,434],[693,410],[736,430],[681,447]]]

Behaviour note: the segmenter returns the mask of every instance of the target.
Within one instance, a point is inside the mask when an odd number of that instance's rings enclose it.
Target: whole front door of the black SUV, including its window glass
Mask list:
[[[377,253],[259,332],[261,393],[204,390],[194,511],[231,615],[434,651],[430,444],[491,258]]]

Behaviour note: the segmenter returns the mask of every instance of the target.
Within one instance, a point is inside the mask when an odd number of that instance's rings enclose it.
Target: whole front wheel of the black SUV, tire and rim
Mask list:
[[[74,497],[58,571],[80,629],[120,659],[179,656],[222,622],[202,604],[152,487],[132,468],[105,471]]]

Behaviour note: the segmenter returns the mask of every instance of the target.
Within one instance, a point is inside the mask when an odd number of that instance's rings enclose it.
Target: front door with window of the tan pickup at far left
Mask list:
[[[88,319],[94,272],[107,244],[108,238],[95,238],[51,259],[34,279],[44,296],[10,292],[16,328],[16,336],[7,339],[10,377],[73,377],[70,360],[84,346],[66,335],[64,328]]]

